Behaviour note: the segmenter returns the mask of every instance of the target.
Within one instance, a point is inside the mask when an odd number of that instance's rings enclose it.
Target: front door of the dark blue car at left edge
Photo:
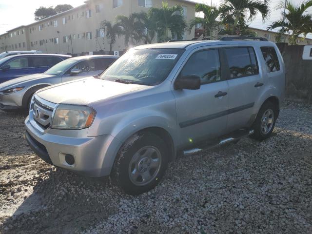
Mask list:
[[[4,71],[0,71],[0,83],[10,79],[32,74],[29,69],[29,60],[27,57],[10,59],[5,64],[3,64],[3,66],[5,65],[9,65],[10,68]]]

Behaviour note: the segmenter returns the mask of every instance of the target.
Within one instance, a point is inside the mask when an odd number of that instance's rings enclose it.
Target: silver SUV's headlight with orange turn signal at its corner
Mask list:
[[[60,104],[53,116],[51,128],[75,130],[88,128],[95,115],[95,110],[88,106]]]

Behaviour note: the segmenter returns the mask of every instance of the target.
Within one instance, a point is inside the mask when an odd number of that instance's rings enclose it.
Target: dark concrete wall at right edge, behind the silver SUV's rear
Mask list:
[[[286,98],[312,103],[312,59],[303,60],[303,45],[277,44],[286,67]]]

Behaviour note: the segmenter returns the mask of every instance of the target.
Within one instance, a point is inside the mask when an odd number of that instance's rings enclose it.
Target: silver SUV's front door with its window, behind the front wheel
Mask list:
[[[226,132],[228,82],[221,72],[219,49],[195,51],[180,75],[201,79],[199,90],[174,90],[180,144],[190,147]]]

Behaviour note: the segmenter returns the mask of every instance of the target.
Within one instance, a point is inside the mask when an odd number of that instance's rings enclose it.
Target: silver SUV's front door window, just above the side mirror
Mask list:
[[[181,76],[192,75],[198,76],[202,84],[221,80],[218,50],[205,50],[194,53],[181,71]]]

